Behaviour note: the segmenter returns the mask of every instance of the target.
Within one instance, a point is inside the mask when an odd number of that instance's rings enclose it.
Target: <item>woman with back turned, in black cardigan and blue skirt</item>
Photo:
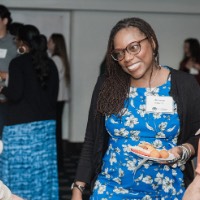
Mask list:
[[[24,199],[58,200],[56,102],[58,71],[47,39],[33,25],[20,28],[20,55],[9,65],[0,180]]]

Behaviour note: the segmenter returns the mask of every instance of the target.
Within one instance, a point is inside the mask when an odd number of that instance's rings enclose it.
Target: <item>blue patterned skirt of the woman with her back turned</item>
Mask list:
[[[45,120],[3,130],[0,180],[26,200],[58,200],[56,122]]]

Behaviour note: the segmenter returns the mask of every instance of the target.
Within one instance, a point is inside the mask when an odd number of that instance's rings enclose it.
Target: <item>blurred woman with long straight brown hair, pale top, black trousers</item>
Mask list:
[[[57,158],[59,171],[63,169],[62,116],[63,109],[69,110],[70,68],[65,38],[60,33],[53,33],[48,40],[48,51],[56,64],[59,75],[59,92],[57,98]],[[67,109],[66,109],[67,107]]]

